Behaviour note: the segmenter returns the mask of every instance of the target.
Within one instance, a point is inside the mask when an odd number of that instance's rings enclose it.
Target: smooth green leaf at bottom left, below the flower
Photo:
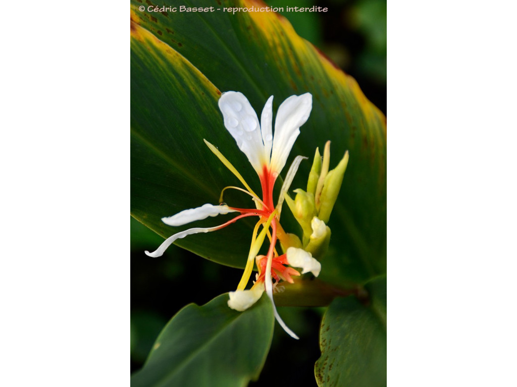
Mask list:
[[[138,386],[245,386],[266,360],[275,318],[264,294],[236,312],[223,294],[199,307],[181,309],[158,336],[144,367],[131,377]]]

